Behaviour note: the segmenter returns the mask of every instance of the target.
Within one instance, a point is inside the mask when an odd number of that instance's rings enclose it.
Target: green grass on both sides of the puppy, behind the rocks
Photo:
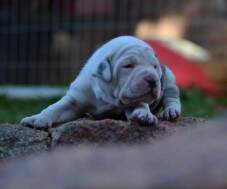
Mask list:
[[[58,98],[39,100],[15,100],[0,97],[0,123],[16,123],[23,117],[40,112]],[[184,116],[213,118],[219,114],[217,107],[227,110],[227,98],[212,98],[197,90],[181,92]]]

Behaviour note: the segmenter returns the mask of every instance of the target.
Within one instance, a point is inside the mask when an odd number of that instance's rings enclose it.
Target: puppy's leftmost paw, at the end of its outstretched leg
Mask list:
[[[24,126],[30,126],[30,127],[42,129],[42,128],[51,127],[53,122],[47,116],[37,114],[37,115],[33,115],[22,119],[21,124]]]

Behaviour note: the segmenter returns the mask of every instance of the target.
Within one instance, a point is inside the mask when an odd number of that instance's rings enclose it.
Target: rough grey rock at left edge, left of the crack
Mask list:
[[[49,142],[47,132],[20,125],[0,125],[0,158],[44,151]]]

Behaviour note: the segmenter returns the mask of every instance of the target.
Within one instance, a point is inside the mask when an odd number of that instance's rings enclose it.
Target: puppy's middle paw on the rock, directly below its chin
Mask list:
[[[134,110],[130,121],[138,122],[141,125],[157,125],[158,123],[158,119],[155,115],[143,109]]]

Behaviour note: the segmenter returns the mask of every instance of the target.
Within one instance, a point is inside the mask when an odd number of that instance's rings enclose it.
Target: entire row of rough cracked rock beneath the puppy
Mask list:
[[[196,125],[200,119],[181,118],[176,122],[160,122],[157,127],[143,127],[117,120],[81,119],[59,127],[40,131],[21,125],[0,125],[0,158],[17,157],[41,152],[59,145],[135,144],[152,142],[171,135],[179,127]]]

